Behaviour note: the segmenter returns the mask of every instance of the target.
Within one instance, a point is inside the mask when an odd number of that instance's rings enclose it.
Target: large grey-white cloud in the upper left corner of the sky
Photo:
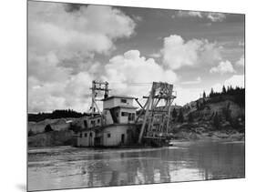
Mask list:
[[[103,5],[67,12],[65,4],[29,2],[28,15],[29,47],[40,53],[56,49],[63,55],[108,53],[113,40],[132,35],[135,27],[127,15]]]

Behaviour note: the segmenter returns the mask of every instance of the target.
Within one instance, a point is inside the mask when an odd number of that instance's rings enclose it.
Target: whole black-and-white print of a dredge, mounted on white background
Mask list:
[[[245,178],[244,14],[28,0],[26,48],[28,191]]]

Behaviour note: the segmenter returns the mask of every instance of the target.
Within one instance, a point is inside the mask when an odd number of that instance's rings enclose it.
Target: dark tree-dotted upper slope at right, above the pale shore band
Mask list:
[[[235,92],[235,94],[233,94]],[[235,119],[244,120],[245,117],[245,91],[234,89],[232,94],[216,93],[205,96],[182,107],[184,119],[188,121],[210,121],[218,116],[220,122],[230,122]],[[179,110],[180,111],[180,110]]]

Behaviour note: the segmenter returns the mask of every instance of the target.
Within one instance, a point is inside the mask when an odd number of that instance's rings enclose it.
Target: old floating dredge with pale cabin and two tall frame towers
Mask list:
[[[133,96],[108,96],[108,82],[92,82],[89,116],[76,122],[77,147],[154,146],[169,144],[173,85],[153,82],[142,106]],[[103,98],[100,98],[102,95]],[[138,103],[133,106],[133,101]],[[103,110],[97,102],[103,102]]]

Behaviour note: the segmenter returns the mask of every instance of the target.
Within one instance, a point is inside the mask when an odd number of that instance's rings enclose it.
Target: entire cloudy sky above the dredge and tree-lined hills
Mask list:
[[[141,102],[168,82],[181,106],[244,86],[244,15],[28,1],[28,112],[86,112],[92,80]]]

